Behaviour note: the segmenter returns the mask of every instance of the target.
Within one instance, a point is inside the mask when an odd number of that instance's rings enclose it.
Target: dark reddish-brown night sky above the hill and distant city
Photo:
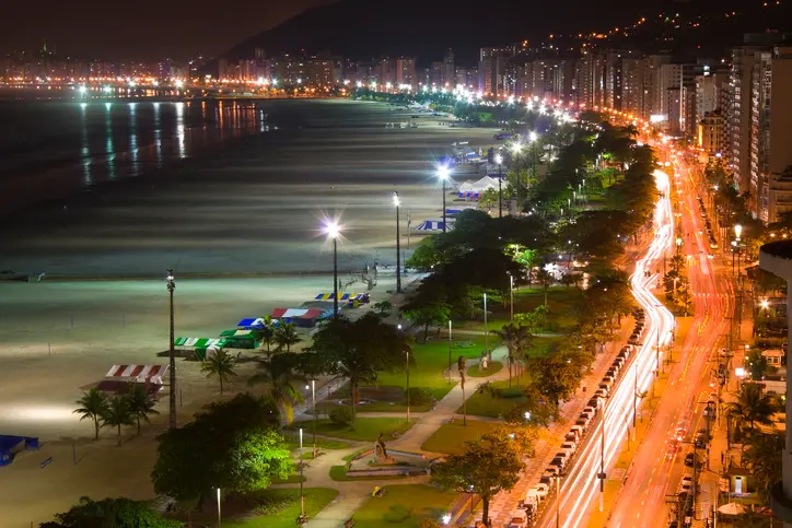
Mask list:
[[[333,0],[39,0],[5,2],[0,52],[39,49],[46,39],[59,55],[155,60],[221,54],[305,9]]]

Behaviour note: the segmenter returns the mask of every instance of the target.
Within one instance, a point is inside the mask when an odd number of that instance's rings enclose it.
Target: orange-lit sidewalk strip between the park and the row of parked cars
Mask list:
[[[602,379],[610,367],[614,356],[629,339],[633,326],[634,321],[631,317],[625,318],[621,324],[619,338],[608,343],[605,347],[605,352],[596,357],[591,373],[583,378],[583,387],[591,387],[592,389],[596,387],[599,379]],[[569,432],[569,429],[574,424],[575,420],[578,420],[578,414],[580,414],[586,406],[594,390],[579,390],[570,401],[561,406],[560,412],[562,418],[554,422],[536,443],[534,448],[535,455],[526,464],[523,470],[523,478],[520,479],[520,482],[517,482],[512,490],[499,493],[492,501],[490,505],[490,516],[493,527],[504,526],[509,521],[510,514],[516,507],[517,503],[525,498],[525,492],[539,481],[545,468],[547,468],[550,460],[556,456],[563,435]]]

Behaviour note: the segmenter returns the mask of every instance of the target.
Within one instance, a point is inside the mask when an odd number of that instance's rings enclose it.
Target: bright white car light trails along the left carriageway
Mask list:
[[[605,427],[605,470],[607,472],[618,458],[619,446],[632,418],[633,376],[638,376],[637,385],[640,391],[649,389],[655,371],[660,367],[659,362],[663,359],[662,348],[669,342],[674,328],[674,316],[651,291],[660,277],[649,270],[657,268],[657,262],[672,247],[674,240],[669,178],[661,171],[655,171],[654,177],[657,190],[661,192],[654,211],[655,236],[643,257],[636,262],[634,272],[630,277],[632,294],[647,314],[649,330],[644,336],[643,343],[638,347],[632,362],[619,376],[616,390],[605,403],[603,411],[605,420],[599,420],[596,426],[587,433],[589,441],[564,480],[560,497],[556,498],[561,501],[561,523],[569,528],[583,526],[589,507],[599,492],[598,473],[603,427]],[[660,351],[656,350],[657,345],[660,345]],[[546,517],[545,526],[555,526],[555,523],[554,513]]]

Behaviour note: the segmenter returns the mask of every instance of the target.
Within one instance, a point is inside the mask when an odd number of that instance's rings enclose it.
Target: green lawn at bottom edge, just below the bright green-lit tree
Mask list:
[[[305,488],[304,496],[305,513],[311,519],[338,496],[338,491]],[[300,490],[261,490],[244,497],[226,497],[222,512],[223,528],[293,528],[300,515]],[[217,511],[207,507],[202,513],[193,512],[190,517],[194,524],[214,526]],[[179,516],[179,520],[186,518]]]

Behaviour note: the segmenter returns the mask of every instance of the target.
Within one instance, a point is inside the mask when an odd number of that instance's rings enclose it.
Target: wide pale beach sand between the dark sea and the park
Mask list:
[[[283,126],[212,159],[100,186],[16,215],[0,230],[8,240],[0,269],[71,279],[0,282],[0,433],[44,443],[0,468],[0,527],[49,520],[82,495],[153,496],[149,473],[167,400],[141,437],[125,431],[123,447],[109,430],[92,442],[92,424],[72,411],[81,391],[112,365],[166,362],[155,355],[167,349],[166,268],[176,270],[176,336],[214,337],[241,318],[330,291],[333,259],[319,225],[339,215],[340,278],[346,282],[350,270],[378,259],[391,274],[381,275],[372,302],[386,300],[394,288],[392,192],[401,197],[407,249],[407,211],[412,225],[441,216],[434,160],[453,141],[492,143],[491,129],[440,126],[429,117],[418,119],[418,129],[386,130],[385,122],[410,114],[383,104],[312,105],[315,115],[301,129]],[[456,174],[457,180],[474,178],[473,172]],[[410,246],[418,239],[412,236]],[[245,389],[253,368],[241,365],[228,394]],[[218,398],[218,387],[197,363],[179,360],[177,373],[184,423]],[[53,462],[39,468],[50,456]]]

